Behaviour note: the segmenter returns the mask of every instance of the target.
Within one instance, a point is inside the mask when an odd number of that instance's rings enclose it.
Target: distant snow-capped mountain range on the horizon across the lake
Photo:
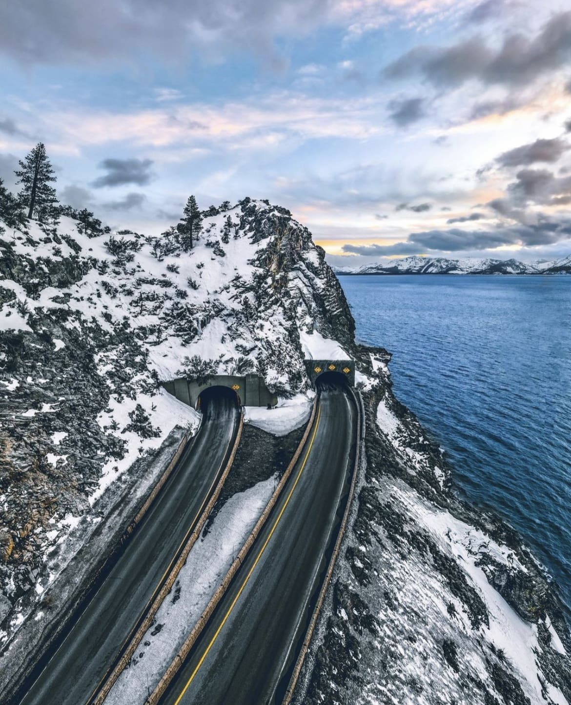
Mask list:
[[[519,262],[517,259],[446,259],[403,257],[358,267],[334,266],[336,274],[571,274],[571,255],[562,259]]]

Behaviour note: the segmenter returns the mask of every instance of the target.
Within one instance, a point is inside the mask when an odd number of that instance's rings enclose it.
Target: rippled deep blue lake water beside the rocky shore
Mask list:
[[[519,530],[571,609],[571,276],[339,280],[459,491]]]

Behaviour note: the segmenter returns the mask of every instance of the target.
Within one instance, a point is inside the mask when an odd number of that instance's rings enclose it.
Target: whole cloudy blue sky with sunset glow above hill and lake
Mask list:
[[[250,196],[340,266],[571,254],[568,1],[20,0],[0,66],[0,178],[45,142],[113,227]]]

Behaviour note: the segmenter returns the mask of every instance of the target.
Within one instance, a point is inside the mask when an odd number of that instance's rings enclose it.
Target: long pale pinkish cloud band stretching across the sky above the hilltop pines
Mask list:
[[[284,140],[366,139],[381,133],[380,109],[381,99],[348,101],[276,90],[241,101],[173,102],[131,112],[68,107],[44,112],[41,118],[46,125],[57,125],[59,139],[71,145],[129,142],[145,149],[165,150],[159,154],[163,159],[187,161],[204,156],[208,147],[219,150],[221,145],[267,152]],[[170,154],[166,154],[168,147],[173,147]],[[193,154],[189,154],[190,149]]]

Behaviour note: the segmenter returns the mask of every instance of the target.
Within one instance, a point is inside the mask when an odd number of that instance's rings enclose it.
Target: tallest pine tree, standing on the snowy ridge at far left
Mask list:
[[[55,219],[58,201],[56,190],[49,183],[56,177],[43,142],[38,142],[24,161],[20,160],[20,166],[20,171],[14,173],[18,176],[18,183],[22,184],[18,199],[27,208],[27,217],[32,218],[36,214],[42,223]]]

